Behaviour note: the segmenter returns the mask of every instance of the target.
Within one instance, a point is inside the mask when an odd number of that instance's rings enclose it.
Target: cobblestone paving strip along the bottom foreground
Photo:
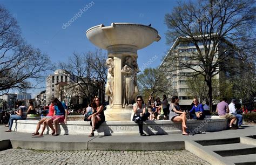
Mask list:
[[[0,152],[4,164],[210,164],[187,150],[178,151],[40,151],[8,149]]]

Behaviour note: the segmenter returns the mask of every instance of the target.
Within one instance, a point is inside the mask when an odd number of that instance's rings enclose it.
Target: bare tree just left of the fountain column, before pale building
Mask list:
[[[67,63],[59,64],[70,78],[68,87],[77,97],[86,98],[90,102],[95,95],[104,93],[107,79],[106,57],[102,50],[83,54],[74,52]],[[99,97],[104,100],[104,95]]]

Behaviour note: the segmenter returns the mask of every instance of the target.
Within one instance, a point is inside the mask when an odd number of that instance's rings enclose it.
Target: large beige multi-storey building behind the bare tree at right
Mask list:
[[[230,46],[231,44],[228,43],[226,40],[223,40],[220,42],[220,44],[217,46],[217,53],[215,53],[213,63],[217,60],[218,55],[220,53],[223,53],[225,51],[225,47]],[[198,46],[201,50],[204,50],[203,43],[198,42]],[[212,45],[210,45],[210,50],[212,49]],[[173,45],[171,46],[171,49],[166,54],[164,60],[162,61],[159,69],[166,68],[167,67],[177,67],[172,66],[172,64],[165,62],[166,58],[169,56],[176,56],[177,58],[177,64],[183,63],[189,63],[190,64],[198,64],[198,61],[193,60],[193,56],[197,56],[197,49],[196,46],[192,42],[189,42],[187,39],[183,37],[178,37]],[[230,55],[229,55],[230,56]],[[232,56],[235,56],[235,53],[233,53]],[[174,61],[175,62],[175,61]],[[201,70],[199,65],[194,65],[193,68],[195,70]],[[175,69],[174,69],[175,70]],[[166,75],[167,78],[169,78],[169,84],[168,86],[172,88],[172,93],[169,94],[169,98],[171,98],[173,95],[178,95],[179,97],[179,103],[180,105],[191,105],[193,101],[193,96],[189,95],[189,88],[187,86],[187,77],[191,76],[195,73],[194,70],[191,68],[184,68],[181,70],[176,70],[172,72],[168,72]],[[223,80],[228,80],[230,78],[230,73],[226,72],[220,72],[219,74],[214,76],[214,79],[217,81],[218,84],[221,84]],[[219,93],[218,93],[219,94]]]

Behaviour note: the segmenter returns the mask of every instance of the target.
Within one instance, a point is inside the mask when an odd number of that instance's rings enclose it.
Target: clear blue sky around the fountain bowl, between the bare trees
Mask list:
[[[92,1],[78,0],[0,0],[18,20],[25,40],[49,54],[51,61],[66,61],[72,52],[87,52],[96,49],[89,42],[85,32],[92,26],[112,22],[139,23],[158,30],[161,40],[138,51],[138,65],[142,66],[147,60],[157,56],[151,67],[157,67],[165,56],[170,45],[166,45],[164,16],[172,11],[176,1],[125,1],[125,0],[93,0],[90,8],[81,17],[72,22],[71,26],[63,29],[63,24]],[[45,86],[45,82],[43,83]],[[28,91],[39,93],[42,90]]]

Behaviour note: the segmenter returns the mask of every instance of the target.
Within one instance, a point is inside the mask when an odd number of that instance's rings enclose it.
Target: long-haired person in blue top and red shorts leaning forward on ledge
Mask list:
[[[64,102],[60,102],[57,98],[52,98],[51,102],[54,104],[55,116],[47,120],[46,123],[52,130],[52,136],[58,136],[58,123],[66,123],[68,117],[68,107],[66,107]],[[53,128],[52,123],[54,123],[55,128]]]

